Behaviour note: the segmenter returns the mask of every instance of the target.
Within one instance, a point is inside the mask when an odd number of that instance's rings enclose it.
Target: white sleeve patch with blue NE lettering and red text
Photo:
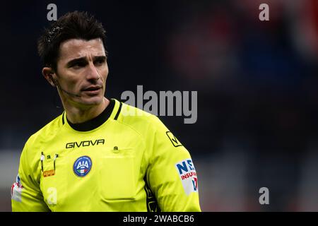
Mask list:
[[[198,192],[198,177],[191,159],[178,162],[175,167],[181,179],[184,191],[187,195]]]

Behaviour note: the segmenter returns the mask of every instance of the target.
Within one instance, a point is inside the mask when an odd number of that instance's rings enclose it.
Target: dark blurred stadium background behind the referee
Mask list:
[[[160,119],[192,153],[202,210],[318,211],[316,0],[1,3],[1,211],[25,141],[61,113],[36,51],[50,3],[105,26],[107,97],[137,85],[198,91],[196,124]]]

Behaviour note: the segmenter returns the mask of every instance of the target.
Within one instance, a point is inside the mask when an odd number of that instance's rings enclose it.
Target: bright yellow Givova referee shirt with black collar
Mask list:
[[[153,114],[112,99],[98,117],[65,112],[33,134],[13,211],[200,211],[194,164]]]

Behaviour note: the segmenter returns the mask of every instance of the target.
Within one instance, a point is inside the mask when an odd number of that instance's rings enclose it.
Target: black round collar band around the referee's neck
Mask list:
[[[105,108],[105,110],[98,115],[98,117],[95,117],[93,119],[90,119],[88,121],[84,121],[82,123],[76,123],[73,124],[69,119],[66,120],[69,123],[69,126],[71,128],[75,129],[76,131],[90,131],[93,129],[98,128],[98,126],[101,126],[112,114],[112,110],[114,109],[115,101],[113,99],[110,100],[110,104]]]

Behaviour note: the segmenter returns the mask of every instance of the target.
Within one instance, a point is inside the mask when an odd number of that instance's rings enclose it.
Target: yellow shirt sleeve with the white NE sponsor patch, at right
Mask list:
[[[154,117],[155,131],[147,180],[164,212],[201,211],[198,177],[186,148]]]

